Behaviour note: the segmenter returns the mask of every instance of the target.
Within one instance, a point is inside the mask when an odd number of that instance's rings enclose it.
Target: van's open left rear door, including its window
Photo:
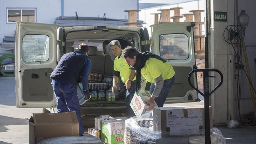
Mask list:
[[[16,106],[54,107],[50,75],[57,65],[55,24],[17,22]]]

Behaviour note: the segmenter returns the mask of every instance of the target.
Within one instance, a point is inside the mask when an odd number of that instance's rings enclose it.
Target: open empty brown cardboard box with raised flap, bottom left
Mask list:
[[[79,136],[76,112],[33,113],[29,119],[29,144],[57,136]]]

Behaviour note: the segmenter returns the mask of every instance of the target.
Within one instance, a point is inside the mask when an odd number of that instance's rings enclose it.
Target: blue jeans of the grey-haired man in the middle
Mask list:
[[[127,107],[128,117],[135,116],[130,106],[131,100],[135,93],[135,88],[136,88],[136,80],[131,82],[131,87],[128,90],[126,89],[126,107]]]

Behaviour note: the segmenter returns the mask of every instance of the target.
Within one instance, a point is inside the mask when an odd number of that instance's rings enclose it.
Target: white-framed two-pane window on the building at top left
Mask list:
[[[7,23],[35,22],[35,9],[7,9]]]

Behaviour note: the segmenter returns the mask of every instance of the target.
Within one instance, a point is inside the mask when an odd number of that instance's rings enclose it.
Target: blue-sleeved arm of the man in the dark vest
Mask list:
[[[83,85],[84,91],[88,90],[88,79],[89,79],[89,74],[91,72],[91,69],[92,69],[91,59],[86,58],[84,65],[83,65],[82,74],[81,74],[82,85]]]

